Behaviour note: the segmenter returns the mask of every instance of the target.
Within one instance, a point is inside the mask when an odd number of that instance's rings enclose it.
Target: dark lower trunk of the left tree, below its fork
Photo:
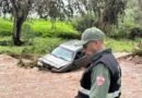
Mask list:
[[[21,19],[14,19],[14,26],[13,26],[13,44],[15,46],[21,46],[23,42],[21,41],[21,27],[23,21]]]

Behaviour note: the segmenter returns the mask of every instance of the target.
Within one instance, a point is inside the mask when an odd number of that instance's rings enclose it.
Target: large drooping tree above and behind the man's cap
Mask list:
[[[84,5],[84,13],[94,13],[97,19],[96,26],[106,33],[110,30],[111,25],[118,23],[119,15],[125,13],[125,0],[80,0]]]

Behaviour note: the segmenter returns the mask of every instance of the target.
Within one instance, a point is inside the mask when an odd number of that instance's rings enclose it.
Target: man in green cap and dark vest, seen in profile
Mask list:
[[[82,34],[81,45],[91,59],[75,98],[120,98],[121,71],[111,49],[104,48],[104,38],[96,27]]]

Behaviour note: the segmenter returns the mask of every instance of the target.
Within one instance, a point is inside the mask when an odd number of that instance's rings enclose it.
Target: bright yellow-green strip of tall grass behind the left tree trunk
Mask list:
[[[0,17],[0,35],[9,36],[12,32],[12,21]],[[23,24],[22,34],[28,32],[31,35],[43,37],[79,38],[80,33],[67,22],[51,22],[45,20],[29,20]],[[26,33],[27,34],[27,33]]]

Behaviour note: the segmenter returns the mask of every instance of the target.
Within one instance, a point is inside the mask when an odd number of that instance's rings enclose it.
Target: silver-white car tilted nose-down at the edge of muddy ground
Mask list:
[[[79,46],[79,41],[70,40],[61,44],[51,53],[39,58],[37,65],[52,72],[68,72],[85,66],[87,58],[82,52],[83,46]]]

